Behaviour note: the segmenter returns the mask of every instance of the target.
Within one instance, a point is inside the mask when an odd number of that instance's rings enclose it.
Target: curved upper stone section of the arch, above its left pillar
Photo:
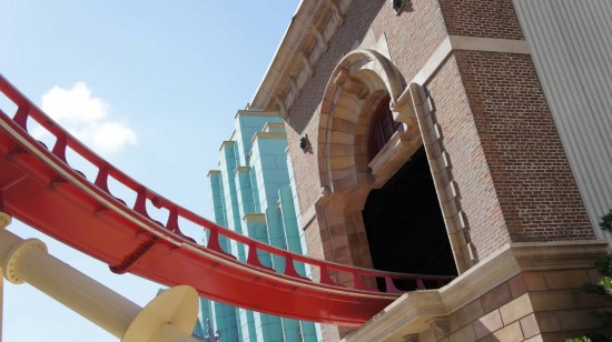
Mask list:
[[[365,149],[372,108],[387,94],[395,103],[402,78],[392,62],[373,50],[355,50],[332,72],[319,117],[320,183],[332,192],[368,183]]]

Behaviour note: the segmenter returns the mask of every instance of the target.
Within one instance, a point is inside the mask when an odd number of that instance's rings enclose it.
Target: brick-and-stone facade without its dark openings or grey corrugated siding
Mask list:
[[[278,110],[308,253],[373,266],[362,212],[425,151],[457,279],[325,341],[562,341],[596,329],[598,241],[511,0],[305,0],[251,103]],[[389,98],[395,132],[368,160]],[[405,203],[406,207],[411,203]],[[316,274],[315,274],[316,276]],[[351,279],[336,279],[351,284]]]

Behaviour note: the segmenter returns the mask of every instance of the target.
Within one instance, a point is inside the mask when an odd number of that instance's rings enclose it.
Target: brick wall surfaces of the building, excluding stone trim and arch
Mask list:
[[[318,118],[329,76],[372,27],[409,82],[450,34],[523,39],[510,0],[354,0],[290,108],[289,152],[304,213],[318,199]],[[445,28],[446,26],[446,28]],[[427,86],[480,258],[509,241],[594,239],[530,56],[455,51]],[[465,87],[465,90],[463,88]],[[297,141],[307,133],[314,153]],[[317,243],[313,240],[313,243]]]

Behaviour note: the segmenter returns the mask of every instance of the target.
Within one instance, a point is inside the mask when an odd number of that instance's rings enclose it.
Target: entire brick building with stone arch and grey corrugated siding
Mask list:
[[[593,151],[612,152],[611,12],[605,0],[302,1],[250,105],[285,119],[308,253],[457,275],[357,330],[324,325],[325,341],[596,328],[601,303],[580,286],[608,251],[596,222],[612,165]]]

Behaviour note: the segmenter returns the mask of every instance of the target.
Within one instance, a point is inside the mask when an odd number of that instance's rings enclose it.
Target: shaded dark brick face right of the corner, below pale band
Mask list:
[[[512,241],[595,239],[531,57],[455,59]]]

